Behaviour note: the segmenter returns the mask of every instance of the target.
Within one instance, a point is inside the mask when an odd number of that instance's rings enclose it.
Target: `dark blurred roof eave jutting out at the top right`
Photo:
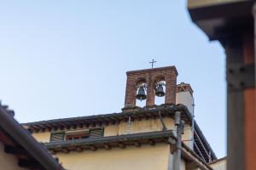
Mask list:
[[[231,34],[253,27],[252,8],[253,0],[230,1],[212,5],[190,5],[189,14],[210,40],[222,41]]]

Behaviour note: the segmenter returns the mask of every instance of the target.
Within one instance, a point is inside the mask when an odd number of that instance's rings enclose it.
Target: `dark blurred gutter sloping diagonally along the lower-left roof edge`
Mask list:
[[[0,105],[0,127],[9,135],[18,141],[36,161],[38,161],[47,170],[62,170],[61,165],[51,156],[44,146],[32,137],[28,131],[16,122],[14,117]]]

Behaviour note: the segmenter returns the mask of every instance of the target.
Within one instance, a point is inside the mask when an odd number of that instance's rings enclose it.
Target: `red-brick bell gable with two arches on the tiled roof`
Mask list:
[[[159,82],[165,82],[165,104],[176,103],[177,70],[175,66],[127,71],[125,90],[125,108],[135,108],[137,90],[142,87],[146,91],[146,107],[154,106],[155,90]]]

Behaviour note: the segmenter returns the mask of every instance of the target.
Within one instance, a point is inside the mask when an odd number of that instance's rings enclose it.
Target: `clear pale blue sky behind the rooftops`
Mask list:
[[[224,49],[189,19],[186,1],[5,1],[0,98],[19,122],[119,112],[125,71],[176,65],[195,119],[225,156]]]

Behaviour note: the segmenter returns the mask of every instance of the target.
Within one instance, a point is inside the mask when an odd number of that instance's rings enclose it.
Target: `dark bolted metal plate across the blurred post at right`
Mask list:
[[[253,64],[231,64],[227,68],[228,87],[232,90],[255,87],[255,68]]]

